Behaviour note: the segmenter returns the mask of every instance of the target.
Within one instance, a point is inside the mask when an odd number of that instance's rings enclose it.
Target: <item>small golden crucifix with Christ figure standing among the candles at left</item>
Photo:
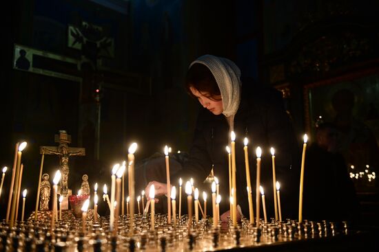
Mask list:
[[[40,154],[55,154],[59,156],[62,174],[59,194],[66,198],[68,196],[68,159],[71,156],[85,156],[85,148],[68,147],[68,144],[71,143],[71,136],[65,130],[59,130],[59,135],[55,135],[55,142],[59,143],[59,146],[40,146],[39,152]]]

